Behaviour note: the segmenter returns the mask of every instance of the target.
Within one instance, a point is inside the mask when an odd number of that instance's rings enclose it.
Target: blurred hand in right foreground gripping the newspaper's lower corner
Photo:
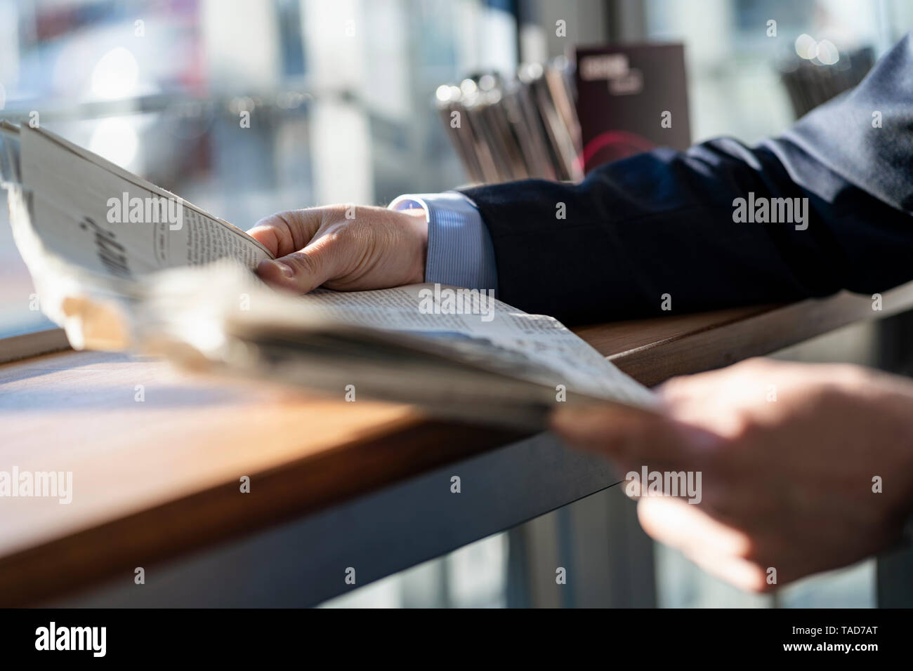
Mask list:
[[[559,435],[623,473],[701,473],[697,504],[641,496],[638,517],[656,540],[759,592],[899,540],[913,508],[913,384],[757,359],[675,378],[659,393],[659,418],[572,407],[553,417]]]

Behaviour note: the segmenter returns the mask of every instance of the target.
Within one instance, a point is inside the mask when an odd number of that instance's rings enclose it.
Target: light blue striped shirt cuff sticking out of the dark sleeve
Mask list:
[[[498,291],[495,248],[478,208],[456,191],[445,194],[406,194],[389,205],[392,210],[421,207],[428,222],[425,282]]]

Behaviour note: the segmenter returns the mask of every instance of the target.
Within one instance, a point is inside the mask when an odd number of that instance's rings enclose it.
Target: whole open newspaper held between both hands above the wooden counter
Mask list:
[[[251,272],[268,250],[235,226],[47,131],[0,138],[16,246],[77,349],[528,429],[560,402],[654,404],[551,317],[430,284],[279,294]]]

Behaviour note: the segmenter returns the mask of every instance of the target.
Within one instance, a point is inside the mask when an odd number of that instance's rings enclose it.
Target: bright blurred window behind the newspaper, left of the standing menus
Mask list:
[[[431,100],[443,81],[515,68],[498,5],[0,0],[0,118],[34,119],[242,228],[385,204],[465,181]],[[0,336],[49,326],[3,216]]]

